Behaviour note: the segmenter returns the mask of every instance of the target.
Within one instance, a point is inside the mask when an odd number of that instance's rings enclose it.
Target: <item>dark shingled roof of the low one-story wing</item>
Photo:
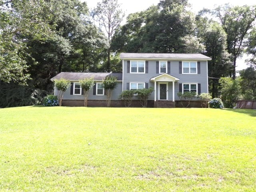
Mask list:
[[[84,78],[93,78],[94,80],[104,80],[107,76],[117,77],[118,81],[122,81],[122,73],[76,73],[76,72],[61,72],[51,78],[51,80],[82,80]]]

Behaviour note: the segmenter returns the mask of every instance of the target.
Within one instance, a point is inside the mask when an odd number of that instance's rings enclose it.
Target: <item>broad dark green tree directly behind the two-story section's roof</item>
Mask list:
[[[125,52],[202,52],[195,16],[188,7],[187,0],[162,0],[144,12],[130,14],[114,36],[112,47]]]

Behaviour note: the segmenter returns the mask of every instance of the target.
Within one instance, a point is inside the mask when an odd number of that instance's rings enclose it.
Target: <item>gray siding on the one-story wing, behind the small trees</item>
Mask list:
[[[118,100],[119,95],[122,92],[122,82],[118,82],[117,86],[114,90],[112,90],[112,100]],[[55,94],[57,94],[57,90],[55,90]],[[64,92],[63,99],[74,99],[74,100],[79,100],[79,99],[84,99],[83,95],[71,95],[70,94],[70,88]],[[93,95],[93,88],[90,89],[88,99],[96,99],[96,100],[105,100],[106,96],[98,96],[98,95]]]

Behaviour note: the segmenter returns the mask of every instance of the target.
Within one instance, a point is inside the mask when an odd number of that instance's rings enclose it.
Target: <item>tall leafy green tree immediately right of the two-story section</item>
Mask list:
[[[213,20],[209,20],[202,10],[196,16],[197,35],[204,44],[204,54],[212,58],[208,61],[209,92],[212,98],[219,96],[219,82],[221,77],[228,76],[232,63],[227,49],[227,36],[222,26]]]

